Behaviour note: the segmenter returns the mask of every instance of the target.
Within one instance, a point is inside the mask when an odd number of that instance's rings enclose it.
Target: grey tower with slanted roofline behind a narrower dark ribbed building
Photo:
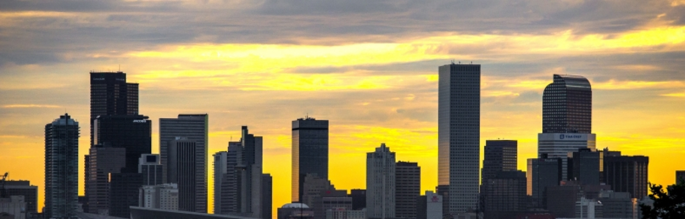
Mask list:
[[[197,160],[205,166],[204,172],[199,172],[198,174],[205,174],[208,172],[208,164],[206,161],[209,159],[208,155],[208,127],[209,127],[209,115],[208,114],[179,114],[178,118],[160,118],[160,157],[162,159],[162,164],[166,164],[166,159],[169,157],[169,142],[175,140],[177,137],[187,138],[188,140],[195,141],[195,144],[201,149],[199,150]],[[169,182],[166,176],[166,166],[164,166],[164,182]],[[207,175],[204,175],[201,179],[202,182],[207,187]],[[206,190],[201,192],[207,192]]]

